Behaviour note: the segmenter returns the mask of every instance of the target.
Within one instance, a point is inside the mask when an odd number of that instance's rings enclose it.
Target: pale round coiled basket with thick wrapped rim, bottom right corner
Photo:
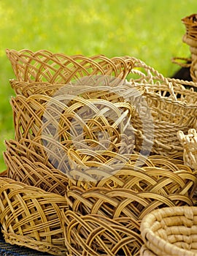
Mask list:
[[[140,255],[197,255],[197,207],[166,207],[142,219]]]

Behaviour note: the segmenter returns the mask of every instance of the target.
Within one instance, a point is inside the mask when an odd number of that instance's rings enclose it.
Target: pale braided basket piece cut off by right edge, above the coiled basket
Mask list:
[[[196,129],[189,129],[188,135],[182,131],[178,132],[178,138],[184,148],[183,159],[185,165],[197,170],[197,132]]]

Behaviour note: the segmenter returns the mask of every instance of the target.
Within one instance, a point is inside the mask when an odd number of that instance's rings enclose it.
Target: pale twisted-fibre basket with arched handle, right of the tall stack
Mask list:
[[[197,123],[196,83],[164,78],[159,72],[139,59],[131,69],[130,83],[144,86],[144,97],[150,108],[154,124],[154,154],[169,155],[183,151],[177,132],[187,132]],[[185,89],[184,85],[193,87]],[[134,128],[142,133],[142,124],[136,118]]]

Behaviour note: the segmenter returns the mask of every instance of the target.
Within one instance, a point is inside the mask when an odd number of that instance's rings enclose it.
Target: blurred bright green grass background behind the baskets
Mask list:
[[[181,19],[196,12],[196,0],[0,0],[0,170],[4,140],[14,138],[6,48],[135,56],[171,76],[171,58],[190,55]]]

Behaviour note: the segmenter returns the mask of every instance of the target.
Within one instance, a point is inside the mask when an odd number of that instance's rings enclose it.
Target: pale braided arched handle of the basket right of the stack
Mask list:
[[[160,72],[155,70],[153,67],[150,67],[147,64],[145,64],[144,61],[136,59],[135,57],[131,57],[131,59],[134,61],[134,69],[131,69],[131,73],[139,75],[141,78],[139,80],[131,78],[129,80],[130,83],[135,83],[135,81],[139,81],[142,82],[144,86],[146,86],[146,84],[155,84],[155,80],[157,80],[158,83],[166,83],[166,85],[169,87],[169,91],[171,92],[171,97],[175,101],[177,101],[177,96],[174,93],[174,87],[173,83],[171,83],[171,80],[165,78]],[[147,72],[147,74],[140,71],[137,68],[143,68]]]

